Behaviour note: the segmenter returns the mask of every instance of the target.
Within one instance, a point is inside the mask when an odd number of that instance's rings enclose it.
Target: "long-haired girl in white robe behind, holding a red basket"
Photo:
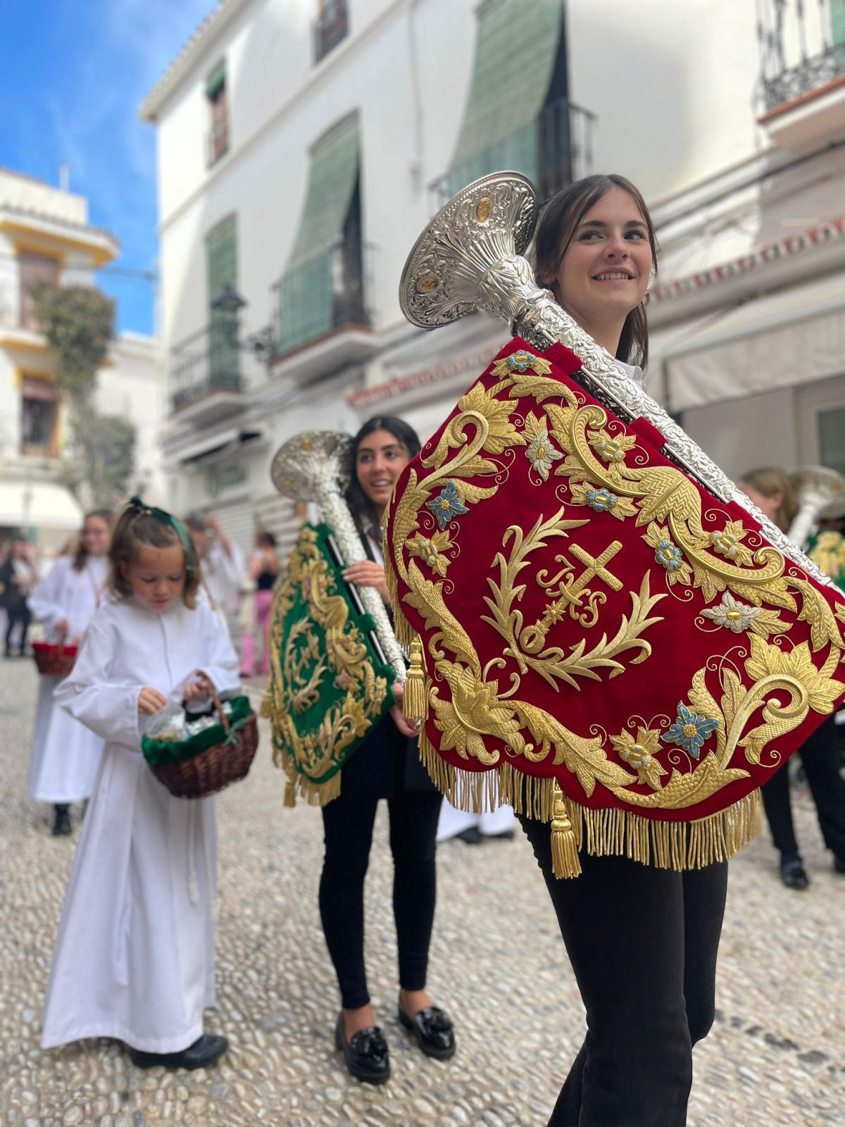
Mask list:
[[[29,596],[29,610],[55,646],[79,646],[103,601],[108,577],[112,514],[87,513],[72,556],[61,556]],[[71,832],[70,806],[90,797],[103,739],[56,704],[60,678],[42,675],[29,758],[29,793],[54,807],[53,833]]]

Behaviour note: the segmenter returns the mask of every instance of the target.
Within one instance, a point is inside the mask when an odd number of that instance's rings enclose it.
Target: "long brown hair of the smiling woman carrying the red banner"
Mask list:
[[[594,207],[602,196],[612,188],[622,188],[626,192],[640,210],[640,214],[646,221],[649,232],[649,245],[651,246],[651,259],[657,270],[657,237],[655,224],[651,222],[646,201],[639,190],[626,180],[624,176],[610,174],[607,176],[585,176],[581,180],[576,180],[569,187],[562,188],[552,196],[543,208],[540,223],[534,236],[534,261],[535,273],[540,285],[548,286],[554,291],[554,296],[560,301],[558,293],[558,269],[561,259],[569,249],[578,224],[584,216]],[[632,309],[622,326],[622,335],[619,338],[616,348],[616,360],[625,364],[639,364],[644,367],[649,358],[649,330],[646,320],[646,302]]]

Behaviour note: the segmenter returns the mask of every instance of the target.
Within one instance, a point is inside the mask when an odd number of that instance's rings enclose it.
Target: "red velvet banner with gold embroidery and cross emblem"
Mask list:
[[[385,559],[400,635],[422,642],[421,746],[586,809],[706,818],[845,696],[845,600],[579,366],[513,339],[397,486]]]

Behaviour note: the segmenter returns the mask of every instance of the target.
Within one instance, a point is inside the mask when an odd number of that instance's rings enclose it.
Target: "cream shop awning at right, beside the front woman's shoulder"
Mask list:
[[[671,411],[842,375],[845,276],[789,286],[690,328],[659,357]]]

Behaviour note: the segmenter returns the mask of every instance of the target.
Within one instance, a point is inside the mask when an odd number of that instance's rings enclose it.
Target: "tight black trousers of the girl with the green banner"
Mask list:
[[[441,802],[441,796],[432,791],[406,791],[388,799],[399,985],[403,990],[426,985]],[[345,1010],[370,1001],[364,967],[364,878],[377,804],[376,798],[345,800],[341,795],[322,808],[326,854],[320,917]]]

